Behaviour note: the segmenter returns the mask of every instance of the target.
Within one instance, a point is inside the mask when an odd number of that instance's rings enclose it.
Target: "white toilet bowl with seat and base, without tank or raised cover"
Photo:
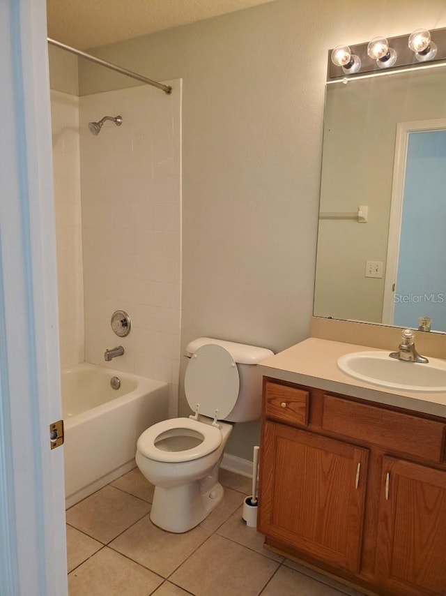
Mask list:
[[[174,418],[154,424],[137,442],[136,462],[155,485],[150,518],[169,532],[187,532],[219,505],[218,470],[232,426]]]

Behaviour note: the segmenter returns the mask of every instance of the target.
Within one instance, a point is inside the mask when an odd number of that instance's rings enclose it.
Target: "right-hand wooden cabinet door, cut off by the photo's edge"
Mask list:
[[[387,490],[386,490],[387,484]],[[376,575],[401,595],[446,594],[446,472],[383,458]]]

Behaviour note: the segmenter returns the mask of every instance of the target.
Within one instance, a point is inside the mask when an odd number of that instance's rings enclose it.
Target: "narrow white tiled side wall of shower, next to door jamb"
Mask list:
[[[84,360],[79,98],[51,91],[61,367]]]

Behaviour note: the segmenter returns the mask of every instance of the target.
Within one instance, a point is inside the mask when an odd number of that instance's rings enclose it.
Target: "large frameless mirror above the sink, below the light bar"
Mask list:
[[[445,69],[327,85],[315,316],[446,331]]]

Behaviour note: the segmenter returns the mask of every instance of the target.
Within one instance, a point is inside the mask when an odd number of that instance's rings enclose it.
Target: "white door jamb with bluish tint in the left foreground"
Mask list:
[[[66,538],[45,0],[0,2],[0,594],[63,596]]]

